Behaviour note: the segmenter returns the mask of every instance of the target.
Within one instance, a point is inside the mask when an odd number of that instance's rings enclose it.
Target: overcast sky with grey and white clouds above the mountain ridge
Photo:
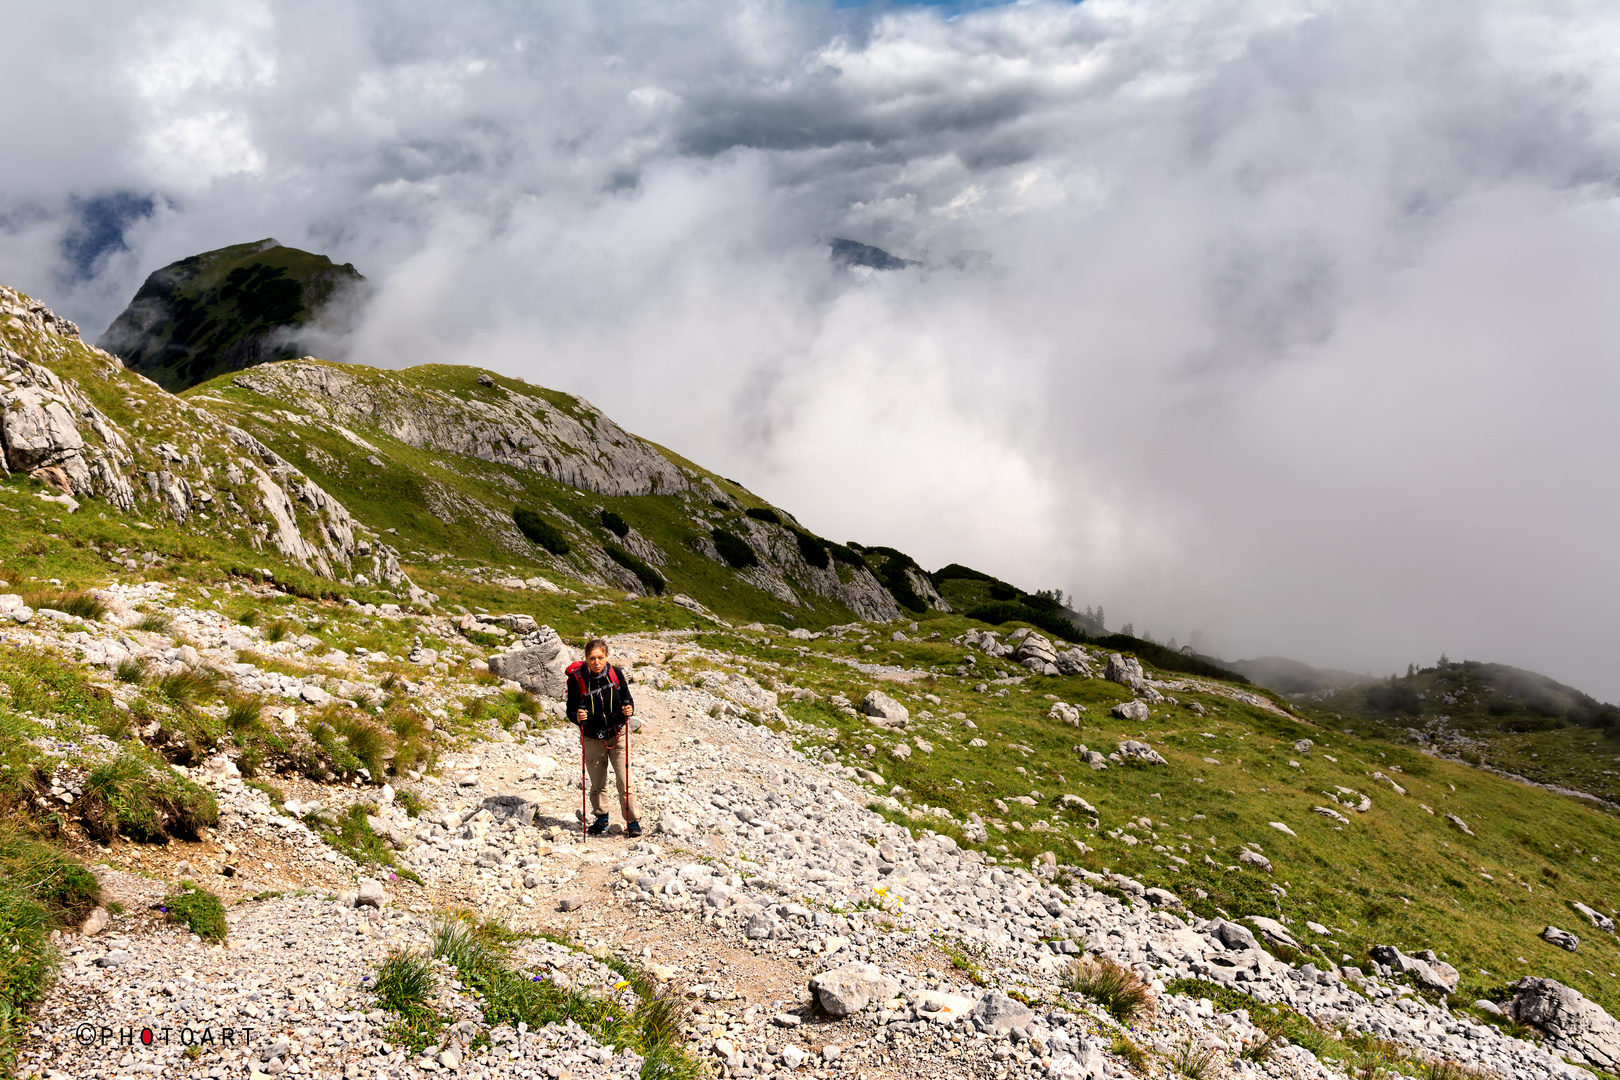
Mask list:
[[[1226,657],[1620,698],[1614,3],[62,3],[6,37],[0,280],[91,338],[275,236],[376,283],[350,359],[582,393],[829,538]]]

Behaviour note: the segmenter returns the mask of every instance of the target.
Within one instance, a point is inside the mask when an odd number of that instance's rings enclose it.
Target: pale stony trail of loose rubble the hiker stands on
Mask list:
[[[379,907],[373,895],[356,907],[360,871],[347,857],[228,767],[193,771],[220,797],[217,834],[185,850],[118,847],[112,861],[123,868],[104,871],[104,884],[122,913],[96,936],[63,939],[68,962],[19,1072],[637,1075],[633,1054],[572,1025],[483,1028],[478,1002],[449,972],[437,1004],[458,1022],[446,1041],[426,1052],[399,1044],[395,1017],[374,1007],[366,980],[390,950],[426,949],[437,913],[470,908],[518,931],[567,934],[573,949],[541,938],[518,946],[517,962],[544,978],[625,993],[593,952],[640,962],[692,1001],[693,1049],[740,1078],[1134,1075],[1115,1052],[1121,1035],[1155,1056],[1152,1075],[1170,1075],[1184,1048],[1213,1051],[1228,1075],[1338,1075],[1298,1048],[1262,1064],[1241,1057],[1260,1031],[1244,1010],[1221,1014],[1207,999],[1162,994],[1152,1017],[1123,1030],[1064,994],[1064,972],[1082,954],[1113,959],[1160,991],[1179,976],[1241,983],[1327,1027],[1375,1031],[1502,1077],[1591,1075],[1377,975],[1290,968],[1251,931],[1200,923],[1129,879],[1068,868],[1069,884],[1058,884],[1053,863],[996,865],[949,837],[909,836],[865,808],[872,797],[846,769],[726,712],[732,698],[763,693],[757,685],[667,678],[659,661],[674,643],[614,643],[638,678],[640,840],[580,839],[572,727],[517,738],[491,729],[410,784],[426,806],[420,818],[397,803],[374,808],[424,884],[384,881]],[[377,798],[308,782],[287,795],[288,810]],[[154,910],[186,876],[230,905],[225,946]]]

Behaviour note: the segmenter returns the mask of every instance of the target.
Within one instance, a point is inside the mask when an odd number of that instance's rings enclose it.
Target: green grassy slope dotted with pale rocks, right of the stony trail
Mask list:
[[[959,617],[933,617],[923,630],[954,636],[967,625]],[[714,643],[729,636],[714,635]],[[872,685],[844,665],[821,662],[816,656],[799,659],[782,648],[787,644],[781,640],[771,646],[755,643],[747,651],[782,664],[778,678],[794,685],[838,688],[852,699]],[[850,644],[816,643],[816,648],[818,653],[863,656]],[[807,750],[829,748],[842,759],[870,764],[886,784],[907,789],[904,798],[914,808],[944,806],[957,818],[977,810],[987,819],[1000,818],[1009,831],[993,829],[991,848],[1004,844],[1009,858],[1027,860],[1055,850],[1074,860],[1079,855],[1076,840],[1081,840],[1094,848],[1079,858],[1084,865],[1106,866],[1150,886],[1163,884],[1205,913],[1220,907],[1238,916],[1283,916],[1301,941],[1314,939],[1304,929],[1306,920],[1336,928],[1340,933],[1332,942],[1315,939],[1333,962],[1349,955],[1349,962],[1364,963],[1366,949],[1377,942],[1434,947],[1463,973],[1463,1001],[1500,993],[1508,980],[1534,972],[1576,986],[1609,1009],[1620,1007],[1620,980],[1610,975],[1620,973],[1620,946],[1570,908],[1570,902],[1581,900],[1602,912],[1617,910],[1620,868],[1612,865],[1612,853],[1620,840],[1620,821],[1614,816],[1464,764],[1280,717],[1215,695],[1174,695],[1181,701],[1200,701],[1210,712],[1204,719],[1183,708],[1162,706],[1142,724],[1108,716],[1108,708],[1128,695],[1100,680],[1042,677],[1030,678],[1006,698],[978,695],[970,690],[978,675],[961,680],[946,674],[962,654],[941,643],[881,641],[878,653],[868,657],[933,667],[940,677],[928,693],[940,696],[941,704],[925,704],[919,695],[902,693],[914,714],[919,708],[936,717],[962,711],[978,725],[978,730],[967,730],[948,719],[920,722],[919,733],[935,745],[935,751],[914,753],[906,763],[885,750],[894,742],[893,733],[846,719],[825,704],[784,708],[799,721],[833,732],[807,738]],[[1004,662],[996,664],[1013,670]],[[980,656],[978,669],[985,667]],[[1087,706],[1079,730],[1047,717],[1048,693]],[[988,746],[967,746],[975,735]],[[1110,751],[1123,738],[1150,742],[1170,766],[1115,766],[1095,772],[1074,750],[1087,743]],[[1312,738],[1317,746],[1311,755],[1294,753],[1298,738]],[[863,745],[876,748],[870,759]],[[1375,771],[1401,784],[1406,795],[1374,780]],[[1312,806],[1333,806],[1324,792],[1338,785],[1367,793],[1372,810],[1358,814],[1340,806],[1351,819],[1348,826],[1335,826],[1312,813]],[[1032,790],[1043,797],[1038,806],[1011,801]],[[1089,813],[1059,808],[1058,800],[1066,792],[1098,808],[1100,829],[1089,827]],[[990,810],[991,798],[1006,800],[1009,810]],[[1461,818],[1474,836],[1466,836],[1445,814]],[[1132,847],[1108,836],[1140,816],[1155,823],[1152,834],[1136,829],[1140,844]],[[910,821],[936,829],[941,824],[920,811]],[[1013,829],[1013,821],[1022,823],[1025,831]],[[1288,824],[1296,836],[1272,829],[1272,821]],[[1037,823],[1050,831],[1035,831]],[[959,829],[943,831],[961,839]],[[1275,873],[1226,870],[1236,865],[1244,842],[1259,844]],[[1155,844],[1166,850],[1155,852]],[[1171,863],[1171,855],[1186,858],[1191,866]],[[1204,855],[1218,866],[1205,865]],[[1286,895],[1268,892],[1273,882]],[[1194,899],[1197,889],[1210,894],[1207,902]],[[1581,952],[1568,954],[1539,941],[1547,923],[1580,933]]]

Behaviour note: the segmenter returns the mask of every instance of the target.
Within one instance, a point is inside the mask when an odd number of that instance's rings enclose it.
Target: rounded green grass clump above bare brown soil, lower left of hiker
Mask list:
[[[79,805],[84,829],[102,844],[120,832],[143,844],[170,836],[196,840],[198,829],[219,824],[211,792],[131,751],[91,769]]]

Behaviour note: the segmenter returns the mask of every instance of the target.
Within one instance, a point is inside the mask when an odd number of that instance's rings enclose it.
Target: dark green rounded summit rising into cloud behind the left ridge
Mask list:
[[[180,392],[305,355],[311,324],[364,280],[348,262],[275,240],[204,251],[154,270],[97,345]]]

